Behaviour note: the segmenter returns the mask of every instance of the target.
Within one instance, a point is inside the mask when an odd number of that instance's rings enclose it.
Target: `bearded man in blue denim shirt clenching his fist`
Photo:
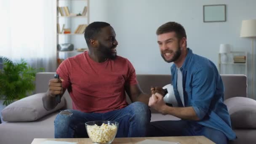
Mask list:
[[[187,48],[184,27],[168,22],[157,29],[163,59],[170,63],[172,83],[179,107],[163,101],[162,88],[151,88],[149,107],[164,115],[181,118],[177,121],[151,123],[150,136],[206,136],[217,144],[235,139],[227,106],[223,103],[224,85],[212,61]]]

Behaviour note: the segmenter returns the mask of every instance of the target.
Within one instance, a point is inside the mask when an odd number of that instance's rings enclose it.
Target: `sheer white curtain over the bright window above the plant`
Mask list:
[[[0,0],[0,56],[56,70],[56,0]]]

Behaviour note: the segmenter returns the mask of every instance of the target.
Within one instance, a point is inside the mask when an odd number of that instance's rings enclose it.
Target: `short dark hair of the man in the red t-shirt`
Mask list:
[[[86,29],[85,29],[85,41],[87,43],[87,45],[89,46],[89,40],[92,38],[95,38],[95,36],[97,34],[99,34],[99,32],[101,32],[101,29],[104,27],[108,27],[110,26],[109,23],[107,22],[102,22],[102,21],[95,21],[91,24],[89,24]]]

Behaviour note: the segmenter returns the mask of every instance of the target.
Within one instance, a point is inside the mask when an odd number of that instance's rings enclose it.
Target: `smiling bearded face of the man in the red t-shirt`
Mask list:
[[[116,47],[118,45],[115,39],[115,31],[111,26],[104,27],[101,29],[97,40],[99,43],[98,51],[102,53],[106,58],[115,59],[117,56]]]

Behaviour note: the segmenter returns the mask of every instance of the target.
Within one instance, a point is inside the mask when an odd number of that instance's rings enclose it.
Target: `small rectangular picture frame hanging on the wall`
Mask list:
[[[203,5],[203,22],[226,21],[226,5]]]

